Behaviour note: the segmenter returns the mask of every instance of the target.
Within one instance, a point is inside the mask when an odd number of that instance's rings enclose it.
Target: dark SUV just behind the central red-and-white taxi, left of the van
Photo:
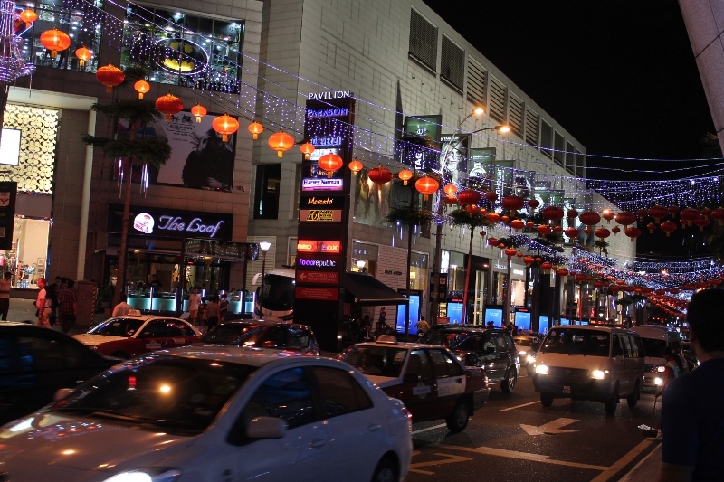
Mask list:
[[[422,337],[420,343],[445,346],[466,366],[485,369],[490,383],[510,393],[518,382],[520,361],[510,332],[491,326],[446,325]]]

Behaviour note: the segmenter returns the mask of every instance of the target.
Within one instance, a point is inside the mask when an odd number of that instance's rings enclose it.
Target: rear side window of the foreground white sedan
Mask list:
[[[362,387],[348,373],[337,368],[313,368],[322,403],[322,418],[329,419],[372,406]]]

